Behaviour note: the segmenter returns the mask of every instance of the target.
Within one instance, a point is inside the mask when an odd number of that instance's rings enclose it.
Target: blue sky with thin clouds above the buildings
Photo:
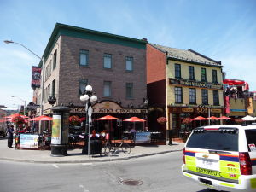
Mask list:
[[[31,71],[56,22],[178,49],[222,61],[227,78],[256,90],[255,0],[0,0],[0,105],[32,102]]]

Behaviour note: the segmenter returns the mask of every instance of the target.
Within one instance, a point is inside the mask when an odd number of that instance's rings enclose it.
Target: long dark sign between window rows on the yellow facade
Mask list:
[[[189,81],[187,79],[172,79],[172,78],[169,78],[169,84],[178,84],[178,85],[184,85],[184,86],[200,87],[200,88],[207,88],[207,89],[218,89],[218,90],[222,90],[222,86],[223,86],[223,84],[218,84],[218,83]]]

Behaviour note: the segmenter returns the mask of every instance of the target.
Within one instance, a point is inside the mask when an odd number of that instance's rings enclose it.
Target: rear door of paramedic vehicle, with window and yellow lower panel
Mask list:
[[[238,183],[240,173],[238,130],[236,128],[198,128],[185,147],[187,172]]]

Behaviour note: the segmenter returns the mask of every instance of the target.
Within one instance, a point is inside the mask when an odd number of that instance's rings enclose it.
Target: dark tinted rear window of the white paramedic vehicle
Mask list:
[[[238,151],[238,132],[220,131],[193,132],[187,148],[204,148],[224,151]]]

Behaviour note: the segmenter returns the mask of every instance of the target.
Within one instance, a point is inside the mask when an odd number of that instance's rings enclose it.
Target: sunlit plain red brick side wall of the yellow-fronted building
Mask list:
[[[147,84],[166,79],[166,53],[147,44]]]

